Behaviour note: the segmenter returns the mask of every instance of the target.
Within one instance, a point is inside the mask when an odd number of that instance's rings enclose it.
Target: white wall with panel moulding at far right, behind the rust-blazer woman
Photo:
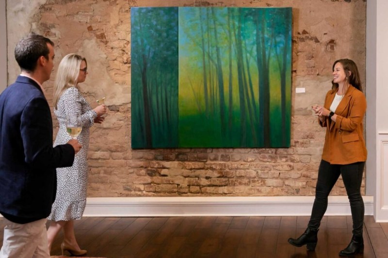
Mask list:
[[[388,222],[387,14],[387,0],[367,1],[367,195],[374,197],[374,218],[377,222]]]

